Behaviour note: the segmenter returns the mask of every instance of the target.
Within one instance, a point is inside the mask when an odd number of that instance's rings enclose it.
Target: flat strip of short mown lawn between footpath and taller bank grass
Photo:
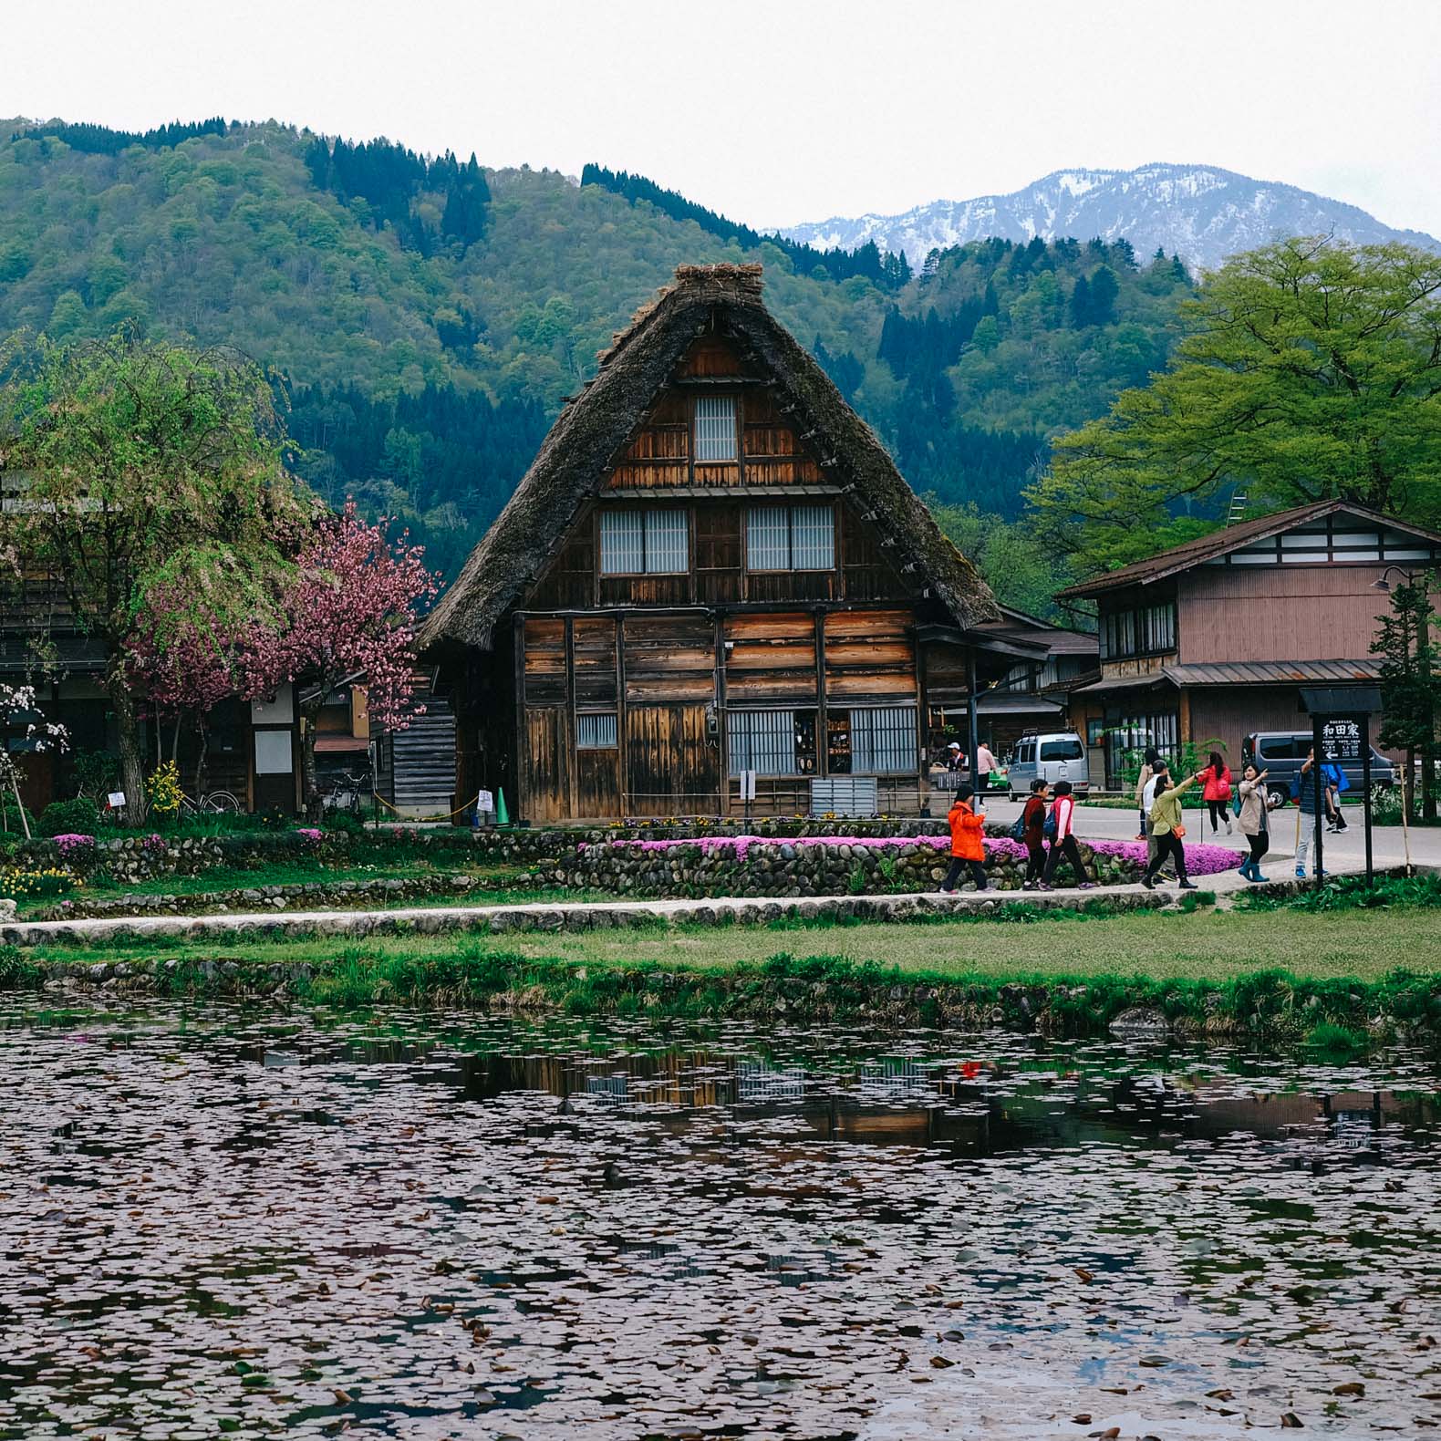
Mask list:
[[[788,953],[837,955],[937,976],[1055,977],[1146,976],[1154,980],[1226,980],[1281,967],[1298,977],[1378,980],[1391,971],[1441,973],[1441,911],[1389,908],[1307,914],[1196,911],[1001,924],[857,924],[775,927],[676,927],[589,934],[327,937],[294,941],[156,942],[102,947],[36,947],[46,961],[216,955],[329,963],[362,957],[448,955],[490,950],[578,963],[651,961],[726,967]]]

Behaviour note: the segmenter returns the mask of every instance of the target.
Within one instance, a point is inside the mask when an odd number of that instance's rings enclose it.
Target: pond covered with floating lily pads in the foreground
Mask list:
[[[0,1095],[6,1441],[1441,1425],[1435,1056],[156,1004]]]

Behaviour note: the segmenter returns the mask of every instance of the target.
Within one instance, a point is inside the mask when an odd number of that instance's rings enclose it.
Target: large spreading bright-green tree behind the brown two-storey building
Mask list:
[[[1213,516],[1233,487],[1262,512],[1344,499],[1441,519],[1438,294],[1441,256],[1405,245],[1228,261],[1183,307],[1170,366],[1055,442],[1030,490],[1049,533],[1114,566],[1205,529],[1186,512]]]

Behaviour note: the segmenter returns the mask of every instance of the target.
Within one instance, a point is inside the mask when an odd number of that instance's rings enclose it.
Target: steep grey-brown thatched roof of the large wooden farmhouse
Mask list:
[[[506,509],[427,620],[422,647],[490,647],[496,623],[543,571],[712,314],[754,356],[752,365],[774,378],[778,398],[798,406],[798,429],[813,432],[827,477],[852,486],[865,509],[878,513],[878,526],[896,537],[899,563],[915,566],[916,589],[929,586],[963,628],[997,618],[986,582],[941,535],[875,432],[765,308],[761,267],[682,265],[676,282],[601,356],[595,380],[561,412]]]

